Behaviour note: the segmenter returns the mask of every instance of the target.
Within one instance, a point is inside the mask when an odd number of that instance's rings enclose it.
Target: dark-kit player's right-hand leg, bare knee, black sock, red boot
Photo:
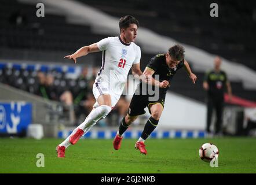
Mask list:
[[[148,136],[153,132],[153,130],[157,127],[158,121],[163,112],[163,106],[160,103],[155,103],[149,105],[149,109],[151,111],[151,117],[149,117],[140,138],[135,144],[135,148],[140,150],[141,154],[145,155],[147,154],[147,150],[145,149],[144,142],[148,138]]]

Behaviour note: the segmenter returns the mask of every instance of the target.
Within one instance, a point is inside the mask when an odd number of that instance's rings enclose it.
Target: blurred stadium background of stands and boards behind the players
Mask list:
[[[253,127],[246,132],[248,120],[256,117],[255,2],[214,2],[218,17],[210,16],[210,1],[2,0],[0,135],[65,138],[82,123],[95,102],[92,85],[101,53],[79,58],[76,65],[63,57],[107,36],[118,36],[119,18],[131,14],[140,22],[136,44],[142,51],[142,71],[155,54],[181,43],[198,76],[192,84],[185,70],[175,75],[153,138],[206,136],[202,83],[216,55],[222,58],[234,96],[224,110],[224,134],[255,136]],[[37,3],[43,3],[44,12]],[[36,16],[37,11],[44,17]],[[131,95],[123,95],[85,137],[113,138]],[[137,138],[148,117],[147,110],[125,136]]]

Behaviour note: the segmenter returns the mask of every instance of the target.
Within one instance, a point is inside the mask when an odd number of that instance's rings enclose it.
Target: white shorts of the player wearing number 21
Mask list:
[[[114,108],[116,103],[119,101],[120,94],[116,94],[115,91],[108,88],[109,85],[106,82],[94,82],[93,84],[93,95],[96,99],[96,103],[94,103],[93,108],[97,108],[98,106],[98,97],[101,94],[109,94],[111,96],[111,108]]]

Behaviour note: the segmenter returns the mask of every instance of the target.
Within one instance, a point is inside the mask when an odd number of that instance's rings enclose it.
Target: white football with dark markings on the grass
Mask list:
[[[199,149],[199,157],[206,162],[211,162],[211,160],[216,160],[219,155],[219,150],[217,146],[213,143],[204,143]]]

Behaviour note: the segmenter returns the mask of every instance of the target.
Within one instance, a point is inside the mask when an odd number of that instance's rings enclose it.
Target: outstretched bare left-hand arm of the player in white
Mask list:
[[[97,52],[97,51],[100,51],[100,49],[98,49],[97,43],[94,43],[90,46],[83,46],[83,47],[81,47],[81,49],[77,50],[74,54],[70,54],[68,56],[65,56],[64,58],[71,59],[76,64],[76,58],[86,56],[89,53],[93,53],[93,52]]]

